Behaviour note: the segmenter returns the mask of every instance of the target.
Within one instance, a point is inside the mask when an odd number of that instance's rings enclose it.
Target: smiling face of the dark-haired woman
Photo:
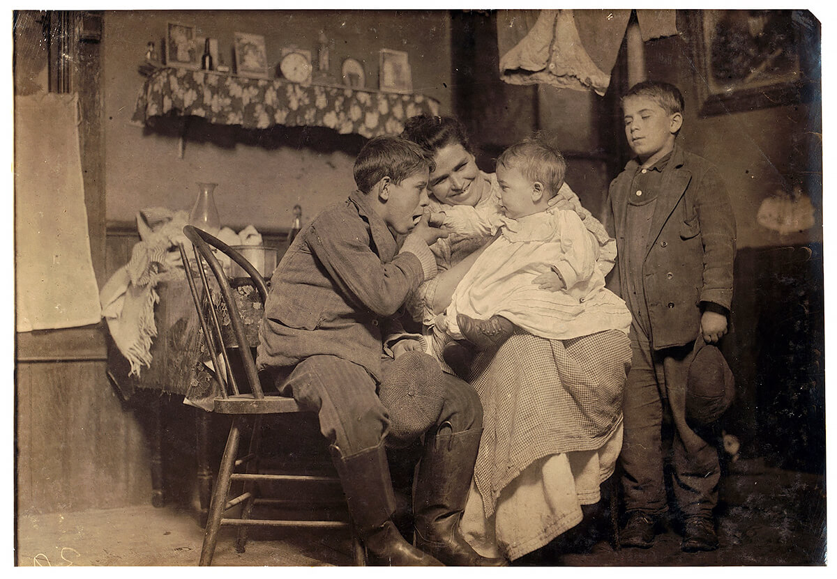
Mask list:
[[[439,202],[448,205],[474,207],[482,194],[479,184],[472,187],[480,175],[474,156],[456,143],[443,146],[433,156],[436,170],[430,173],[428,189]]]

